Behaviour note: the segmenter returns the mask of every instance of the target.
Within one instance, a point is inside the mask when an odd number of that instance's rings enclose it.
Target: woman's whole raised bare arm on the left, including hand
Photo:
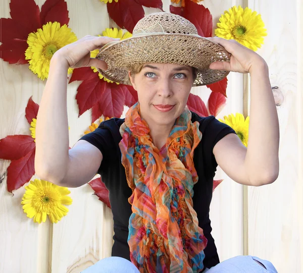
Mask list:
[[[107,70],[104,61],[90,58],[90,51],[114,40],[85,36],[54,54],[37,115],[35,171],[41,179],[79,187],[96,174],[103,158],[99,149],[80,140],[69,150],[67,71],[90,66]]]

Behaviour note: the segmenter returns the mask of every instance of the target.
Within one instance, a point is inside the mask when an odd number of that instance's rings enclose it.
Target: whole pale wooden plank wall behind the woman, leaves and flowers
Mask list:
[[[99,0],[66,2],[69,27],[78,38],[115,26],[106,5]],[[44,0],[36,3],[41,7]],[[168,11],[170,0],[163,3]],[[220,168],[216,173],[215,178],[224,178],[211,204],[213,236],[220,259],[249,254],[272,261],[279,273],[303,272],[302,4],[300,0],[205,0],[203,5],[213,15],[214,29],[221,14],[234,5],[248,6],[262,15],[268,36],[257,52],[269,65],[272,86],[278,86],[284,96],[284,102],[277,106],[281,135],[277,181],[262,187],[243,187]],[[1,0],[0,17],[9,18],[9,11],[9,0]],[[145,9],[146,14],[155,11]],[[30,96],[40,102],[44,84],[27,65],[9,65],[0,60],[0,139],[30,134],[25,107]],[[74,82],[68,86],[70,146],[90,125],[90,111],[78,118],[78,85]],[[230,73],[227,106],[217,118],[236,112],[249,114],[249,91],[249,75]],[[205,101],[210,95],[207,87],[195,87],[192,92]],[[6,175],[9,163],[0,159],[0,178]],[[22,210],[24,188],[12,196],[6,182],[5,176],[0,184],[0,272],[76,273],[111,255],[112,212],[92,195],[88,184],[70,189],[73,204],[58,224],[37,225]]]

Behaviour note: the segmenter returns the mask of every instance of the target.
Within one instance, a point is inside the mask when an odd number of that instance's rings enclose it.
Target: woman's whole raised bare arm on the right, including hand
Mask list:
[[[231,53],[230,62],[215,62],[211,69],[250,73],[250,118],[247,149],[229,134],[213,152],[222,170],[234,181],[251,186],[273,183],[279,175],[279,121],[268,66],[256,52],[235,40],[211,40]]]

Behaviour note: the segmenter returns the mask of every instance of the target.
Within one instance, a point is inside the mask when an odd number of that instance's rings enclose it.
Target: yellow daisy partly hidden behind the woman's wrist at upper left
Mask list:
[[[29,69],[44,80],[48,77],[49,63],[54,53],[61,47],[75,42],[77,37],[67,25],[60,27],[58,22],[48,22],[37,32],[29,33],[25,51],[25,59],[29,61]],[[68,70],[71,74],[72,70]]]

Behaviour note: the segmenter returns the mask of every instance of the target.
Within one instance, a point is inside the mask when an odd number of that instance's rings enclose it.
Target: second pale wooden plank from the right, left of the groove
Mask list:
[[[213,15],[213,30],[215,30],[221,14],[232,6],[242,5],[242,3],[238,0],[214,0],[204,1],[201,4]],[[214,33],[213,36],[215,36]],[[243,74],[230,72],[227,79],[227,105],[217,119],[223,119],[225,115],[231,113],[243,113]],[[208,100],[211,93],[205,86],[195,87],[192,92],[204,101]],[[243,254],[243,186],[230,179],[220,167],[217,168],[215,179],[224,179],[214,191],[210,208],[212,235],[220,261],[223,261]]]

